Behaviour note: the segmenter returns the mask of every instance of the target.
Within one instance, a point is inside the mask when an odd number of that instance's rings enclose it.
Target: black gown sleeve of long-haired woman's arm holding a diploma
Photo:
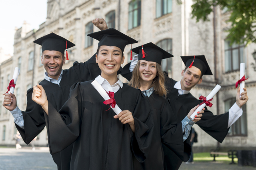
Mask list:
[[[183,142],[182,123],[178,123],[168,99],[161,112],[160,130],[162,144],[186,162],[190,157],[191,146]]]

